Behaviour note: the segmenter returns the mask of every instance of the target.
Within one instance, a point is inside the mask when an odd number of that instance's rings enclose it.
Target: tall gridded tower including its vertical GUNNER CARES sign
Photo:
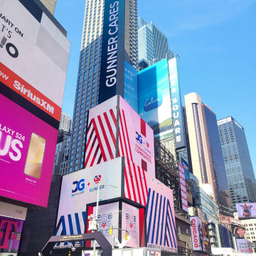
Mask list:
[[[73,113],[69,172],[83,168],[88,110],[114,95],[127,100],[124,73],[137,78],[137,0],[87,0]],[[132,70],[132,71],[131,71]],[[137,81],[136,87],[137,87]],[[131,90],[132,87],[129,87]],[[133,92],[137,95],[137,88]],[[136,96],[137,97],[137,96]],[[134,100],[137,104],[137,98]]]

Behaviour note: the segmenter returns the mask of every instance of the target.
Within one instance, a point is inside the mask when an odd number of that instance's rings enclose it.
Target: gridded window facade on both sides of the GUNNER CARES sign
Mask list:
[[[101,55],[107,54],[102,53],[105,3],[104,0],[87,0],[85,4],[69,172],[78,171],[84,166],[88,111],[98,104]],[[113,10],[118,11],[118,8],[115,6]],[[121,43],[124,46],[124,60],[134,67],[138,63],[137,28],[137,0],[125,0],[124,41]]]

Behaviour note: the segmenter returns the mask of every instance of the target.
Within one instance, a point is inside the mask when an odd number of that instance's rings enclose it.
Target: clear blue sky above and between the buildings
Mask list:
[[[55,9],[71,42],[63,99],[63,112],[70,117],[84,9],[85,0],[58,0]],[[255,13],[256,0],[138,0],[139,16],[153,21],[180,56],[182,98],[196,92],[217,119],[231,115],[244,127],[256,173]]]

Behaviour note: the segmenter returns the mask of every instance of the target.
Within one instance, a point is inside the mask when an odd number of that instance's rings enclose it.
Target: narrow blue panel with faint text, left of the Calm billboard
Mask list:
[[[124,61],[124,100],[138,112],[137,70]]]

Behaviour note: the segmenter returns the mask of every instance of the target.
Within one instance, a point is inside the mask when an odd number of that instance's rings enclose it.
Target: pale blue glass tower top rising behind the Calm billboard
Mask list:
[[[143,18],[139,17],[138,27],[139,63],[144,60],[152,65],[164,58],[173,57],[168,39],[152,21],[146,23]]]

